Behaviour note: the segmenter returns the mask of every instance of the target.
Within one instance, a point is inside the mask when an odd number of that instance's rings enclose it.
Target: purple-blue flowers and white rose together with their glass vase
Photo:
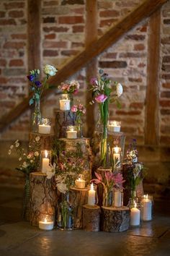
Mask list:
[[[35,103],[35,111],[32,113],[32,132],[37,132],[38,124],[40,124],[41,113],[40,113],[40,98],[43,90],[48,89],[50,85],[47,83],[49,77],[52,77],[58,72],[58,70],[46,64],[44,69],[45,79],[40,81],[40,70],[34,69],[30,71],[30,75],[27,76],[28,80],[30,80],[30,90],[32,91],[32,98],[30,98],[30,105]]]

